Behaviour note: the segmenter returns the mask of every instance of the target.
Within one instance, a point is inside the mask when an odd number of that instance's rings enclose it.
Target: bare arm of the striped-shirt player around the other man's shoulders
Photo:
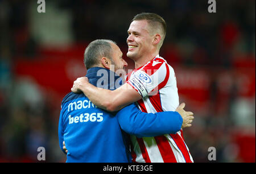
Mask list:
[[[115,90],[97,88],[89,83],[87,77],[74,81],[72,92],[83,92],[94,105],[108,111],[117,111],[124,106],[138,101],[142,96],[129,84],[125,83]]]

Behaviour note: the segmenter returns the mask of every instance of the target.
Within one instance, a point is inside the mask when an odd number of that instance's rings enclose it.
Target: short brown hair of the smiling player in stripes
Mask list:
[[[147,20],[147,22],[148,22],[148,24],[150,24],[151,28],[156,28],[159,26],[160,30],[162,30],[162,32],[163,32],[162,39],[164,40],[164,38],[166,36],[166,21],[158,14],[140,13],[140,14],[137,14],[134,16],[132,22],[134,20]],[[162,44],[163,44],[163,40],[162,40]]]

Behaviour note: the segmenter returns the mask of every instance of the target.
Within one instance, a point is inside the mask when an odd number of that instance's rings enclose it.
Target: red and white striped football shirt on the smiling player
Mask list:
[[[127,75],[126,81],[143,97],[137,105],[145,113],[175,111],[179,106],[174,69],[159,55],[134,69]],[[193,162],[182,130],[154,137],[137,138],[131,135],[131,142],[133,162]]]

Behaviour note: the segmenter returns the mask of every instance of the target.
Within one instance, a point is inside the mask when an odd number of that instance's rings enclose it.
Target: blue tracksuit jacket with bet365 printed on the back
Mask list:
[[[110,81],[110,76],[114,81]],[[94,86],[106,89],[115,89],[115,81],[120,79],[100,67],[88,69],[86,77]],[[83,93],[71,92],[61,102],[59,145],[63,151],[65,141],[67,162],[131,162],[128,134],[138,137],[174,134],[181,129],[182,122],[175,111],[147,114],[134,103],[110,113],[93,105]]]

